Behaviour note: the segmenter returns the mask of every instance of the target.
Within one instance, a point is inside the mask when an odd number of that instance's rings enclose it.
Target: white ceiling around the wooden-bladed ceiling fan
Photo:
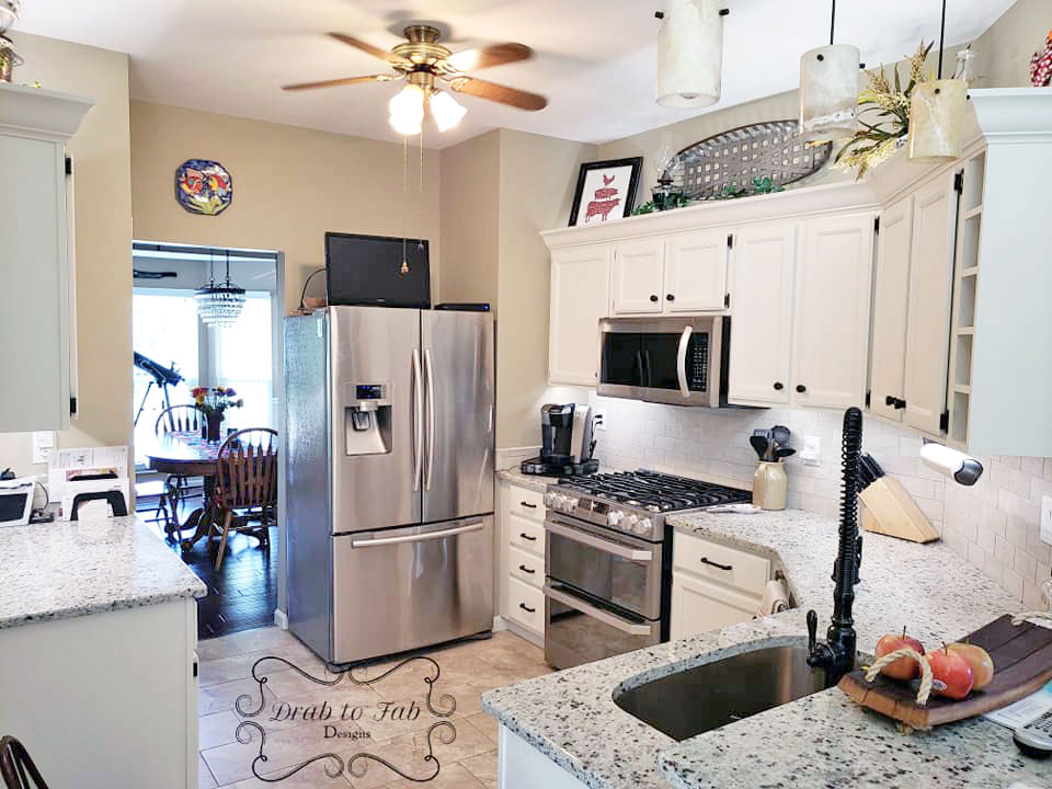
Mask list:
[[[1013,0],[953,0],[947,42],[972,41]],[[407,21],[448,26],[453,49],[517,41],[534,60],[480,77],[549,98],[527,113],[472,96],[468,115],[425,145],[445,147],[507,127],[599,142],[796,88],[800,54],[827,41],[827,0],[727,0],[723,98],[706,111],[653,100],[663,0],[23,0],[19,30],[129,53],[134,99],[296,126],[400,139],[387,126],[391,84],[285,93],[287,82],[384,71],[370,56],[332,41],[340,31],[382,48]],[[841,0],[837,42],[870,65],[938,36],[941,0]],[[950,65],[952,68],[952,64]]]

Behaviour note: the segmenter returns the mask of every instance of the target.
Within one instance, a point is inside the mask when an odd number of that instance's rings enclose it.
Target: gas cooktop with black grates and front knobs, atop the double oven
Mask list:
[[[751,500],[740,488],[645,469],[565,477],[545,493],[549,510],[650,542],[664,539],[667,514]]]

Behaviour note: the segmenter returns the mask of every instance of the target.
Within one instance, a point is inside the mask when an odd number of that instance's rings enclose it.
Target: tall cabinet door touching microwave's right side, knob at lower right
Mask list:
[[[731,263],[729,401],[789,402],[792,279],[797,225],[766,225],[735,236]]]

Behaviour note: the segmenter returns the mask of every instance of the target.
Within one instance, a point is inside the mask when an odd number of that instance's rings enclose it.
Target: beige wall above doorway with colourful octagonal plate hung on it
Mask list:
[[[233,178],[233,203],[219,216],[175,202],[175,168],[192,158],[219,161]],[[425,152],[423,201],[419,150],[411,147],[408,160],[407,194],[400,145],[132,102],[135,238],[284,252],[286,312],[299,305],[307,275],[325,264],[327,230],[427,238],[437,283],[438,153]],[[320,279],[311,293],[321,293]]]

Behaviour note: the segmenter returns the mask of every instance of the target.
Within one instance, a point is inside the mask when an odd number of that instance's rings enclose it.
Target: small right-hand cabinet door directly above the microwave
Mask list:
[[[723,309],[729,238],[724,231],[707,230],[665,241],[666,312]]]

